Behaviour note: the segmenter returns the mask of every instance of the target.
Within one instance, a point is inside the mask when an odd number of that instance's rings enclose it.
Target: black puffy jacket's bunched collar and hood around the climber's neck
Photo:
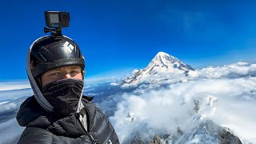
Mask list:
[[[84,108],[80,111],[82,116],[86,113],[89,115],[88,120],[90,125],[88,128],[91,127],[94,118],[94,109],[90,106],[92,105],[91,100],[92,98],[90,97],[83,97],[82,102]],[[34,96],[27,98],[26,101],[22,103],[16,118],[20,126],[39,127],[57,135],[78,137],[85,134],[85,130],[81,122],[79,122],[78,113],[66,118],[56,118],[53,114],[46,112],[46,110],[38,104]]]

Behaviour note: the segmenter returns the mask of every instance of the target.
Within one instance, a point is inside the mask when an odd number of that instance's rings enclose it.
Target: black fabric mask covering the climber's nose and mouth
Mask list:
[[[66,78],[46,84],[42,87],[42,94],[54,106],[54,114],[65,117],[77,112],[82,87],[82,80]]]

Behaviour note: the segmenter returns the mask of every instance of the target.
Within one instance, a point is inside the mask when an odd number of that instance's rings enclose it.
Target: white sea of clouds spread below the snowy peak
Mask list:
[[[152,139],[154,134],[176,134],[178,127],[189,133],[194,129],[194,118],[211,119],[228,127],[243,143],[256,143],[255,76],[256,65],[245,62],[207,67],[191,71],[189,75],[170,77],[176,80],[167,78],[162,81],[164,87],[159,81],[131,92],[110,95],[98,105],[103,111],[111,111],[110,122],[121,143],[136,134],[142,139]],[[118,86],[117,83],[112,84]],[[166,83],[169,84],[166,86]],[[198,111],[195,102],[198,102]],[[4,106],[2,110],[9,110],[17,105],[2,103],[0,106]],[[15,118],[0,123],[0,143],[13,142],[22,130]]]

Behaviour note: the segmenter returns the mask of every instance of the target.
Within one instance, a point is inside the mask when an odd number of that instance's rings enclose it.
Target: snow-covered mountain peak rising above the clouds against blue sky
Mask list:
[[[162,81],[162,78],[170,78],[170,75],[185,74],[194,70],[191,66],[179,61],[178,58],[158,52],[151,62],[142,70],[134,70],[129,78],[124,80],[125,84],[138,84],[141,82],[151,83]]]

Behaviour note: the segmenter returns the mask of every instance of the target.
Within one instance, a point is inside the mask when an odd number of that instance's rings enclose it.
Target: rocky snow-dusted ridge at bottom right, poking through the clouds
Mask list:
[[[234,135],[228,128],[218,126],[211,120],[205,120],[198,123],[190,133],[184,132],[178,127],[177,134],[158,134],[153,139],[142,140],[139,135],[134,134],[134,138],[125,143],[140,144],[190,144],[190,143],[234,143],[242,144],[241,140]]]

